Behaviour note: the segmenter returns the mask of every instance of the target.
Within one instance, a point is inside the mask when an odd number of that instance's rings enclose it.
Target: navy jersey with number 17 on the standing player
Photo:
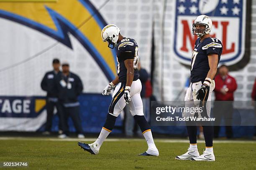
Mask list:
[[[222,43],[217,38],[207,37],[202,42],[198,38],[191,58],[191,82],[204,81],[210,70],[208,55],[218,54],[218,63],[222,53]]]

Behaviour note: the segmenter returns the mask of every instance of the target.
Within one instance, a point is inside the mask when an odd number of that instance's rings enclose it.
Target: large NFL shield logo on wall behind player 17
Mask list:
[[[198,15],[207,15],[212,20],[210,35],[223,43],[220,63],[234,65],[240,62],[247,56],[246,13],[251,14],[246,11],[246,0],[177,0],[174,37],[177,59],[190,65],[198,38],[192,34],[192,24]]]

